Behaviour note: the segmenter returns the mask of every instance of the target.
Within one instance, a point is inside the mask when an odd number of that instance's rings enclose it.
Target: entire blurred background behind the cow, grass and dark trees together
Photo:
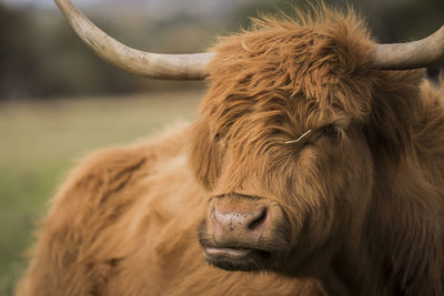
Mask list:
[[[314,1],[315,2],[315,1]],[[346,7],[342,0],[325,1]],[[118,40],[165,53],[200,52],[218,35],[296,0],[74,0]],[[381,42],[444,24],[443,0],[349,0]],[[51,0],[0,0],[0,296],[13,294],[36,224],[83,155],[192,120],[202,82],[148,81],[102,62]]]

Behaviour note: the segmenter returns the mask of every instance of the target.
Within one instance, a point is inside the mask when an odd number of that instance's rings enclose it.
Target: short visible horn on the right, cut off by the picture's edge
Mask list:
[[[371,68],[407,70],[424,68],[444,59],[444,25],[418,41],[379,44],[372,55]]]

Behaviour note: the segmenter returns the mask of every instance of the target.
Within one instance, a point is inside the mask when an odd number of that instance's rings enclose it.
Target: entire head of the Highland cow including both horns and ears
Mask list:
[[[208,196],[200,243],[225,269],[293,274],[355,239],[374,157],[380,146],[402,150],[408,135],[396,110],[411,108],[417,91],[417,75],[375,70],[421,68],[444,55],[444,27],[418,42],[377,45],[353,13],[325,9],[319,20],[258,21],[211,53],[153,54],[109,38],[68,0],[56,2],[88,45],[124,70],[157,79],[209,74],[190,164]]]

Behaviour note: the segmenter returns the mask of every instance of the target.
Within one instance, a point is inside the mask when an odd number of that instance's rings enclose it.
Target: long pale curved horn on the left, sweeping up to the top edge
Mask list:
[[[111,64],[151,79],[201,80],[214,53],[161,54],[129,48],[95,27],[70,0],[54,0],[83,42]]]

